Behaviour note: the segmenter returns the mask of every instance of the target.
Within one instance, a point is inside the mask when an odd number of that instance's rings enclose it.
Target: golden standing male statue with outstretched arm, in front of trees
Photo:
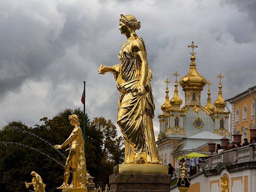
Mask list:
[[[57,189],[63,189],[62,191],[66,191],[64,190],[65,188],[77,188],[82,189],[79,190],[79,192],[87,192],[83,133],[80,128],[80,123],[77,115],[70,115],[68,119],[70,120],[70,124],[74,126],[72,133],[62,145],[54,146],[55,149],[61,149],[69,145],[69,148],[66,149],[66,151],[69,150],[69,154],[64,168],[64,182],[62,186],[58,187]],[[72,168],[73,172],[73,180],[72,183],[68,185],[70,167]]]

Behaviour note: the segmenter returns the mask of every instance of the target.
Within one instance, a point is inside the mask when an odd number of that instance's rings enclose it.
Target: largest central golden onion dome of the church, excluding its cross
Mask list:
[[[202,90],[206,84],[206,78],[201,76],[196,70],[196,57],[192,55],[190,60],[190,70],[188,74],[180,80],[180,86],[183,90],[187,88],[201,88]]]

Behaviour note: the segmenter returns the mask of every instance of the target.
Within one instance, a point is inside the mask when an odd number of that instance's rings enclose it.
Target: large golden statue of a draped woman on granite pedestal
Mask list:
[[[153,122],[154,101],[144,41],[135,30],[140,22],[133,15],[122,15],[119,28],[126,35],[118,54],[120,64],[100,66],[99,74],[112,72],[119,90],[117,123],[124,136],[124,163],[162,164],[156,148]]]

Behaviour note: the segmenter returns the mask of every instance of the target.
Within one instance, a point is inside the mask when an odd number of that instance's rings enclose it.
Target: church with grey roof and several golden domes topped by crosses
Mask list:
[[[178,95],[178,72],[175,76],[174,96],[169,98],[167,79],[165,102],[161,106],[162,114],[158,116],[160,130],[158,135],[158,152],[164,164],[171,163],[178,168],[178,158],[191,152],[209,154],[208,142],[220,143],[224,136],[229,137],[228,115],[230,112],[225,110],[225,102],[222,98],[223,76],[220,79],[218,88],[218,98],[211,103],[210,81],[201,76],[196,70],[196,56],[194,49],[198,46],[194,42],[190,46],[192,53],[190,57],[190,69],[188,74],[179,81],[184,91],[185,101]],[[208,85],[208,97],[206,106],[201,105],[201,92],[204,86]],[[182,104],[184,105],[182,106]]]

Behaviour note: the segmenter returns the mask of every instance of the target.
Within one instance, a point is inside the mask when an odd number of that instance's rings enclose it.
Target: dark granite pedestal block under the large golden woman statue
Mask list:
[[[109,176],[109,192],[170,192],[171,182],[167,174],[116,173]]]

